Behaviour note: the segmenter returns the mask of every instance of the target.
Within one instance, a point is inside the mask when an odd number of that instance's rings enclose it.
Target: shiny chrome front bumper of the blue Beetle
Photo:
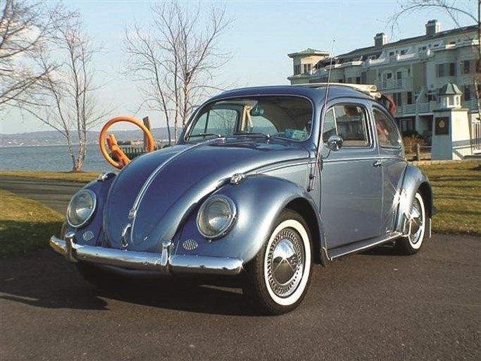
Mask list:
[[[50,247],[69,262],[92,262],[114,267],[158,271],[161,274],[211,274],[235,276],[242,271],[242,259],[229,257],[204,257],[170,255],[173,244],[164,242],[160,255],[150,252],[115,250],[113,248],[77,245],[73,235],[65,240],[50,238]]]

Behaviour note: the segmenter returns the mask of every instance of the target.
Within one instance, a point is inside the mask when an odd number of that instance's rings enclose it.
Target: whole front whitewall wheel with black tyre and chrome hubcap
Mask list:
[[[285,209],[245,268],[244,293],[262,313],[283,314],[299,306],[312,268],[311,235],[304,219]]]

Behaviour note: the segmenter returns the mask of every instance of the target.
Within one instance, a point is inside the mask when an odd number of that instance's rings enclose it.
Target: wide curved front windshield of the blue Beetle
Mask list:
[[[196,114],[187,142],[230,135],[270,135],[303,141],[311,134],[313,109],[301,97],[245,97],[213,102]]]

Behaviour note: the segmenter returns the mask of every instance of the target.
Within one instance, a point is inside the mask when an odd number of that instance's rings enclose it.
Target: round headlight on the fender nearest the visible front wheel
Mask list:
[[[197,228],[206,238],[225,235],[236,216],[235,204],[223,195],[214,195],[202,204],[197,214]]]

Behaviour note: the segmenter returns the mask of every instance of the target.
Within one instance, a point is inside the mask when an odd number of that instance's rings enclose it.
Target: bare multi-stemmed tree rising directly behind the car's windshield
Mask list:
[[[144,102],[165,116],[171,145],[171,122],[177,139],[178,127],[185,126],[193,107],[219,89],[214,74],[230,54],[218,50],[218,39],[230,20],[225,8],[210,8],[204,20],[199,7],[190,11],[176,1],[158,4],[152,11],[149,30],[135,24],[125,32],[127,72],[142,83]]]

